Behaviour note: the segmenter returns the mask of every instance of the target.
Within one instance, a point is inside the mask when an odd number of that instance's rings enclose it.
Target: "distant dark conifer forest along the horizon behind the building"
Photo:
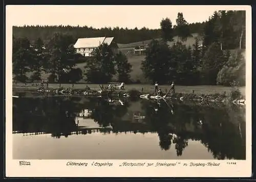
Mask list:
[[[188,24],[189,30],[191,33],[200,33],[203,29],[203,23],[191,23]],[[174,33],[176,34],[176,30]],[[38,38],[40,38],[44,42],[50,41],[51,37],[55,33],[62,34],[70,34],[74,37],[74,41],[78,38],[83,37],[115,37],[115,41],[117,43],[132,43],[139,42],[143,40],[151,40],[157,39],[161,37],[160,29],[148,29],[148,28],[135,28],[135,29],[127,29],[127,28],[101,28],[95,29],[93,27],[83,26],[71,26],[71,25],[24,25],[23,27],[13,27],[13,36],[14,38],[24,38],[27,37],[31,43],[36,42]]]

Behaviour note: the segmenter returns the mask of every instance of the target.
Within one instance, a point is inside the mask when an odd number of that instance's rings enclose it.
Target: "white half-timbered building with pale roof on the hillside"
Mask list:
[[[112,51],[116,54],[118,51],[118,45],[114,41],[114,37],[92,37],[92,38],[79,38],[77,39],[74,47],[76,52],[84,57],[92,56],[93,50],[99,47],[101,44],[106,43],[111,46]]]

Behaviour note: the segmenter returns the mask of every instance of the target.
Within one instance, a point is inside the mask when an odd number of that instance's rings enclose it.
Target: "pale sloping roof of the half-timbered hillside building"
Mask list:
[[[108,45],[111,44],[114,37],[92,37],[92,38],[79,38],[77,39],[74,47],[75,48],[89,48],[89,47],[98,47],[102,43]]]

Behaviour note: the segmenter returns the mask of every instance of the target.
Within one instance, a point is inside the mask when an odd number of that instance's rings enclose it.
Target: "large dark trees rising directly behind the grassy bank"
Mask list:
[[[242,55],[245,48],[245,11],[215,12],[202,24],[202,36],[196,38],[193,47],[187,47],[183,42],[192,32],[191,24],[184,19],[183,13],[178,13],[175,26],[169,18],[162,19],[159,30],[161,39],[152,40],[141,63],[144,77],[151,83],[161,84],[174,81],[179,85],[229,85],[230,82],[237,81],[240,85],[245,85],[245,58]],[[194,26],[200,27],[197,23]],[[50,30],[51,27],[48,28]],[[69,27],[60,28],[65,30]],[[37,30],[40,29],[37,26]],[[54,31],[48,35],[53,33]],[[174,36],[178,36],[178,41],[169,46],[167,41],[173,41]],[[202,46],[199,45],[199,39],[203,42]],[[28,37],[13,36],[15,80],[40,80],[42,72],[45,72],[50,73],[50,82],[75,83],[82,79],[102,84],[113,80],[130,82],[132,66],[126,56],[121,51],[114,54],[106,44],[100,45],[93,56],[86,59],[83,71],[76,68],[81,55],[73,47],[75,40],[72,33],[55,32],[49,40],[42,40],[38,34],[36,41],[30,41]],[[28,78],[26,73],[31,71],[33,74]]]

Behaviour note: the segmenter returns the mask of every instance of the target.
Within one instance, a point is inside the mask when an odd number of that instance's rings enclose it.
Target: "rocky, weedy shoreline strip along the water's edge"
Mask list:
[[[129,86],[129,85],[126,85]],[[134,85],[133,85],[134,86]],[[147,87],[152,88],[152,86],[147,85]],[[196,102],[205,102],[205,103],[211,103],[211,102],[215,102],[215,103],[239,103],[239,104],[243,104],[245,105],[245,96],[243,96],[243,94],[238,95],[238,96],[232,96],[230,93],[226,93],[226,91],[224,92],[212,92],[212,93],[195,93],[194,90],[191,93],[182,93],[182,92],[178,92],[176,91],[176,93],[174,94],[168,94],[165,95],[167,93],[167,89],[166,92],[163,91],[163,95],[162,96],[156,96],[154,94],[154,91],[152,92],[153,89],[149,89],[150,92],[146,92],[146,91],[140,91],[136,88],[132,88],[132,89],[124,89],[124,90],[101,90],[100,87],[96,90],[90,88],[89,90],[84,88],[71,88],[71,89],[67,89],[64,87],[60,87],[60,88],[43,88],[42,90],[39,90],[39,87],[16,87],[18,88],[16,90],[16,93],[23,93],[21,95],[19,94],[14,94],[13,97],[25,97],[24,94],[26,93],[34,93],[37,94],[41,97],[56,97],[56,96],[118,96],[118,97],[129,97],[131,99],[154,99],[154,100],[159,100],[159,99],[175,99],[175,100],[179,100],[179,101],[196,101]],[[26,90],[26,88],[28,88],[28,90]],[[30,89],[30,90],[29,90]],[[148,90],[148,89],[147,89]],[[15,91],[13,90],[13,93],[15,93]],[[47,95],[46,95],[47,94]],[[23,95],[23,96],[22,96]],[[31,97],[33,97],[33,94],[31,95]]]

